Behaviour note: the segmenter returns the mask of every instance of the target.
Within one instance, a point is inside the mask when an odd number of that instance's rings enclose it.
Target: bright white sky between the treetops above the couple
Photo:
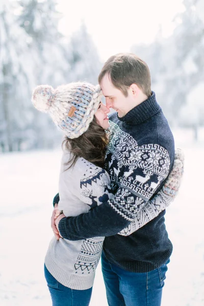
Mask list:
[[[162,26],[163,36],[174,29],[173,17],[184,10],[182,0],[58,0],[63,13],[60,30],[65,36],[87,25],[102,61],[131,45],[150,42]]]

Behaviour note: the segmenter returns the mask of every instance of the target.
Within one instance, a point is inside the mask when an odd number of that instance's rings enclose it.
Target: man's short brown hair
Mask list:
[[[132,84],[143,91],[147,97],[151,95],[151,78],[147,64],[133,53],[119,53],[111,56],[98,76],[101,84],[105,74],[110,76],[112,84],[127,96],[127,89]]]

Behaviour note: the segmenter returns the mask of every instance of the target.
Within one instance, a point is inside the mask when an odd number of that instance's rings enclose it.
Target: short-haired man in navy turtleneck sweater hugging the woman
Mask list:
[[[107,107],[117,112],[110,116],[106,155],[115,197],[87,214],[61,215],[56,225],[69,240],[106,236],[101,260],[110,306],[159,306],[172,252],[165,211],[130,236],[117,233],[164,184],[173,166],[173,136],[140,58],[112,56],[98,82]]]

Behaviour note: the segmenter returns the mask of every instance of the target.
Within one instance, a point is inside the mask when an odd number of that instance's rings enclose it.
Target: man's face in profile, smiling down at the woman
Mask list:
[[[125,97],[122,91],[112,84],[108,74],[105,74],[100,87],[106,97],[106,106],[114,109],[118,113],[118,117],[123,117],[129,112],[130,96]]]

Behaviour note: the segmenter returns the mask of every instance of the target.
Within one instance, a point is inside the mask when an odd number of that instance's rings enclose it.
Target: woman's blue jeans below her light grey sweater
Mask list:
[[[53,306],[88,306],[92,288],[73,290],[60,284],[44,265],[44,275],[52,297]]]

